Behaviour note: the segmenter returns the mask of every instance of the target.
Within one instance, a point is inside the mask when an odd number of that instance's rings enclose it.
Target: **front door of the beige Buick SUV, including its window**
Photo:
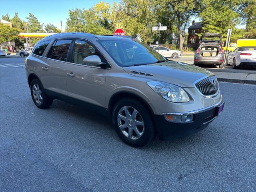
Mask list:
[[[86,40],[74,41],[70,54],[72,64],[69,64],[66,76],[68,96],[105,108],[107,70],[84,64],[84,58],[90,55],[98,55],[102,61],[106,62],[98,50]]]

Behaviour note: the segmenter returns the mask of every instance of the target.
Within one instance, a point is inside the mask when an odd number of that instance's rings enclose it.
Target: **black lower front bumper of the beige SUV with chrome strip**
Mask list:
[[[172,140],[203,130],[218,116],[218,106],[221,104],[222,102],[201,110],[183,113],[193,114],[193,122],[190,123],[170,122],[166,120],[164,115],[154,115],[158,138],[160,140]]]

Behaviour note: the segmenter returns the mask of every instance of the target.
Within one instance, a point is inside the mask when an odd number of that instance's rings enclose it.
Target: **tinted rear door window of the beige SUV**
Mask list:
[[[52,51],[52,59],[67,61],[68,49],[72,40],[57,40]],[[50,53],[50,51],[49,51]]]

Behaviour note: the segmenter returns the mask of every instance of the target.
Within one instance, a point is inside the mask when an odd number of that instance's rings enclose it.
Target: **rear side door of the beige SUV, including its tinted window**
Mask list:
[[[55,40],[42,58],[44,63],[40,69],[40,79],[44,88],[56,96],[58,94],[67,96],[66,70],[69,66],[67,59],[71,42],[72,39]]]

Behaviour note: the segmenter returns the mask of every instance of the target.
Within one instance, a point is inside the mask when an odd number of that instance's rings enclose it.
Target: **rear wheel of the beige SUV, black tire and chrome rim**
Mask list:
[[[42,83],[38,79],[33,79],[30,84],[30,93],[34,104],[41,109],[49,108],[52,105],[50,98],[44,91]]]

